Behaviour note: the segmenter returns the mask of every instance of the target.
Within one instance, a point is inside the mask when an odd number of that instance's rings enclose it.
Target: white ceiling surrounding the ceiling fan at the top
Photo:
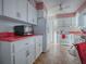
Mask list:
[[[53,16],[56,14],[71,13],[77,10],[77,8],[83,4],[85,0],[37,0],[44,1],[47,10],[48,16]],[[60,10],[60,4],[62,10]]]

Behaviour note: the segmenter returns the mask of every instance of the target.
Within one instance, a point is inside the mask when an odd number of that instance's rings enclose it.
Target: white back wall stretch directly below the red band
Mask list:
[[[76,26],[75,17],[58,18],[58,27],[75,27],[75,26]]]

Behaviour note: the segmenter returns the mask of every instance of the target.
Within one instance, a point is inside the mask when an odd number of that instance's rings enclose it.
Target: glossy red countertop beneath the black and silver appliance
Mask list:
[[[13,33],[0,33],[0,41],[16,41],[27,37],[34,37],[36,35],[15,36]]]

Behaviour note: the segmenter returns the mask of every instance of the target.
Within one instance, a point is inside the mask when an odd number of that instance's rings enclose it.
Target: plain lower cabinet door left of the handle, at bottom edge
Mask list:
[[[15,64],[26,64],[26,50],[21,50],[15,53]]]

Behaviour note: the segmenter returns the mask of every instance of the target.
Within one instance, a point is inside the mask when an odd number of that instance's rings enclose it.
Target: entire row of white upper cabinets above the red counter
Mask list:
[[[28,0],[0,0],[0,15],[37,25],[37,10]]]

